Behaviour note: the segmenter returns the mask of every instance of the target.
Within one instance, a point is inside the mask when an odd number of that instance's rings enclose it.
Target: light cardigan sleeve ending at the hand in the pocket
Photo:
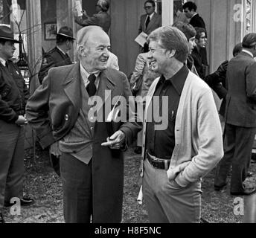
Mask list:
[[[198,152],[175,179],[181,187],[206,176],[223,158],[223,133],[211,89],[199,97],[196,125],[197,135],[192,135],[192,143],[197,144]]]

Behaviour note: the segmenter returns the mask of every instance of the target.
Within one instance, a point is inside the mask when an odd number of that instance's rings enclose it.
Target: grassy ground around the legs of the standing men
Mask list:
[[[60,178],[54,173],[48,159],[48,152],[36,149],[36,161],[32,151],[27,150],[25,160],[25,193],[36,202],[29,208],[22,208],[20,216],[10,215],[10,208],[4,208],[6,222],[10,223],[61,223],[63,220],[63,194]],[[123,222],[147,223],[144,205],[138,205],[138,167],[140,158],[133,149],[125,154],[124,210]],[[246,181],[256,184],[256,164],[251,165],[254,176]],[[214,170],[202,181],[202,218],[211,223],[240,223],[243,216],[234,215],[234,196],[229,187],[221,192],[214,191]],[[229,178],[230,179],[230,178]]]

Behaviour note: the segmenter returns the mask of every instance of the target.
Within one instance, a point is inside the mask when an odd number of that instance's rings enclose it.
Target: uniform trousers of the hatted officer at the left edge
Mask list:
[[[4,201],[22,197],[24,128],[0,120],[0,210]]]

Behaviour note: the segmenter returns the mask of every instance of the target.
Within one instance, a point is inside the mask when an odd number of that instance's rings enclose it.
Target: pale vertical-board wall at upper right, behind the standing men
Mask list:
[[[234,45],[241,41],[241,22],[234,21],[234,5],[241,0],[196,0],[198,13],[205,20],[208,32],[210,72],[221,62],[230,60]]]

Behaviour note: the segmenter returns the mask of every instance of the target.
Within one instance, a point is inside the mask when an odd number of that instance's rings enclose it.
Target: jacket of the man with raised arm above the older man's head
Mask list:
[[[75,22],[77,22],[79,25],[82,25],[83,27],[89,25],[98,25],[103,28],[106,33],[109,33],[111,17],[109,16],[109,13],[99,12],[87,19],[80,19],[79,17],[75,17]]]

